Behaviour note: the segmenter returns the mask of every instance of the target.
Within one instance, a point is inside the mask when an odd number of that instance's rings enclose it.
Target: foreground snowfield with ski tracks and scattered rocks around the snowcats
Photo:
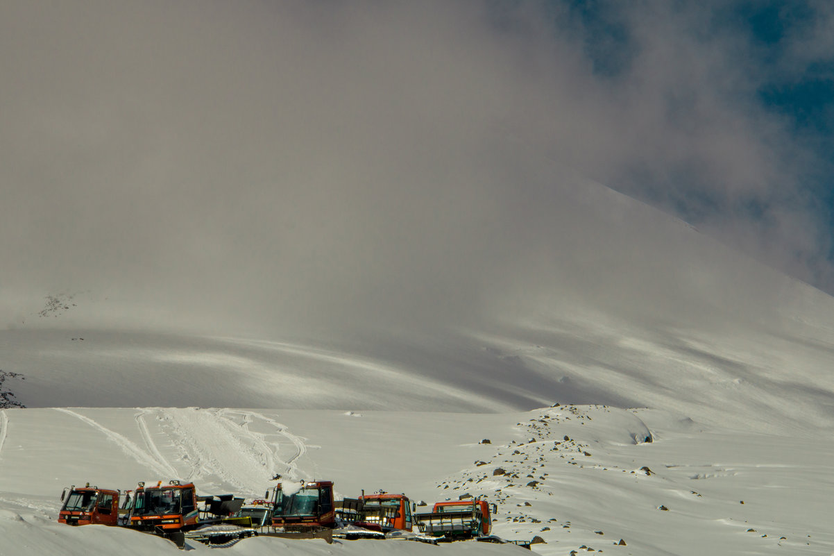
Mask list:
[[[58,494],[71,483],[131,488],[140,479],[176,477],[203,493],[254,498],[273,473],[333,479],[339,496],[379,488],[428,503],[485,496],[499,507],[495,533],[539,535],[545,543],[534,548],[542,554],[834,550],[826,491],[834,482],[834,443],[822,434],[728,432],[667,412],[604,406],[503,414],[44,408],[0,415],[3,554],[176,550],[141,533],[59,525]],[[513,553],[472,544],[440,549]],[[247,539],[229,550],[426,550],[413,545]]]

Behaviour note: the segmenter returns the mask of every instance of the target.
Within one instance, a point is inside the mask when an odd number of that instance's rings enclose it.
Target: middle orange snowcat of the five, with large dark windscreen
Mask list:
[[[274,479],[278,480],[280,476]],[[259,534],[283,538],[324,538],[333,542],[336,512],[333,481],[278,483],[264,496],[269,500],[271,523]]]

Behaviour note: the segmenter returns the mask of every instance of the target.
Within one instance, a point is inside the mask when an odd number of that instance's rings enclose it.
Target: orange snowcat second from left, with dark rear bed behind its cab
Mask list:
[[[155,486],[138,483],[132,494],[126,526],[168,538],[179,548],[185,547],[186,538],[230,545],[255,534],[248,519],[231,519],[244,502],[231,494],[198,496],[193,483],[176,480]]]

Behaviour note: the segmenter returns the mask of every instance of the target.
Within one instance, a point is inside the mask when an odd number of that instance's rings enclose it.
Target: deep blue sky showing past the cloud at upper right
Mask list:
[[[827,268],[834,261],[834,10],[830,3],[590,0],[550,3],[550,9],[560,33],[565,28],[583,29],[584,52],[594,72],[612,83],[627,83],[632,77],[632,63],[641,57],[645,40],[635,28],[648,14],[663,13],[660,27],[674,27],[690,37],[705,56],[712,48],[726,48],[726,65],[716,79],[743,81],[722,92],[726,102],[779,128],[773,150],[785,158],[786,168],[791,167],[790,183],[782,183],[779,191],[753,190],[731,202],[723,190],[693,179],[686,168],[666,180],[647,171],[637,172],[630,184],[613,179],[610,185],[665,206],[695,225],[724,213],[772,228],[777,225],[773,214],[792,205],[817,226],[814,245],[806,252],[796,251],[809,265],[802,277],[834,291]]]

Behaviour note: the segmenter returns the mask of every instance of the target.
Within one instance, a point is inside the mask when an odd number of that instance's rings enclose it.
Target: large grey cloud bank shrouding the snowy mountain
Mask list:
[[[338,336],[651,296],[678,246],[600,224],[577,174],[811,275],[797,147],[750,101],[745,41],[638,8],[610,8],[634,50],[605,74],[566,7],[6,5],[4,303]]]

